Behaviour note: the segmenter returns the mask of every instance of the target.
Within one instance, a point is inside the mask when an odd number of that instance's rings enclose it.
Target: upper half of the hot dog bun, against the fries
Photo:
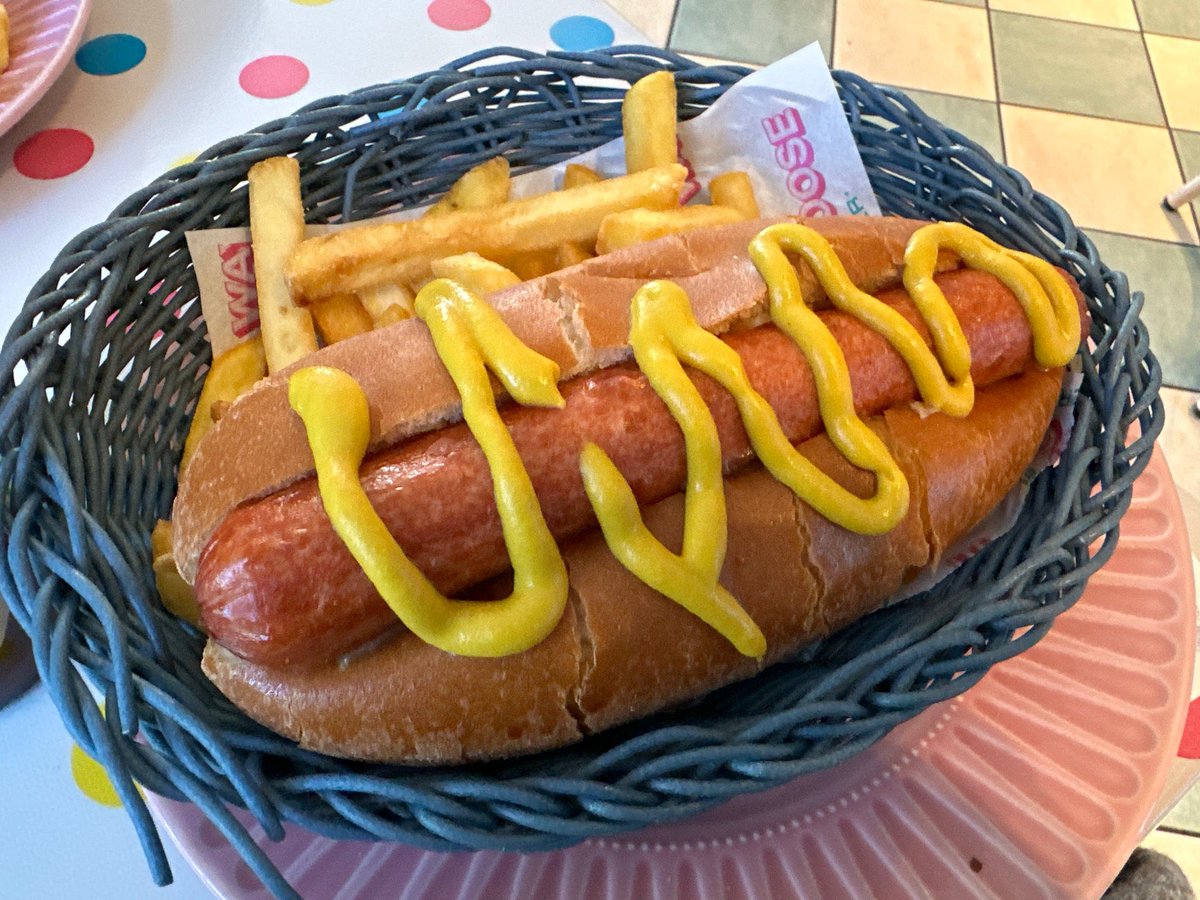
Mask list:
[[[514,332],[558,364],[563,378],[628,355],[629,301],[652,278],[677,280],[696,318],[721,332],[761,320],[766,286],[746,254],[750,239],[775,221],[760,220],[668,235],[524,282],[488,298]],[[904,248],[925,224],[895,217],[805,220],[823,233],[851,280],[868,292],[900,283]],[[820,286],[793,260],[806,295]],[[938,269],[958,265],[943,253]],[[233,403],[198,445],[180,476],[172,522],[174,558],[196,578],[200,551],[229,511],[312,473],[304,426],[287,401],[287,378],[308,365],[349,372],[371,409],[371,450],[443,427],[461,418],[461,401],[425,324],[409,319],[325,347],[254,385]]]

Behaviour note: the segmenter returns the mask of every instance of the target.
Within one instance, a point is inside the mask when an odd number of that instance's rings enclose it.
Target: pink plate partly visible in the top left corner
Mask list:
[[[91,0],[5,0],[12,59],[0,72],[0,134],[62,74],[83,37]]]

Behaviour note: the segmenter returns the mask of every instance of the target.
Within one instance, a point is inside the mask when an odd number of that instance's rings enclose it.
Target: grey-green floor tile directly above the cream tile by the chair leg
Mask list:
[[[1136,31],[991,13],[1000,98],[1147,125],[1163,124],[1146,47]]]

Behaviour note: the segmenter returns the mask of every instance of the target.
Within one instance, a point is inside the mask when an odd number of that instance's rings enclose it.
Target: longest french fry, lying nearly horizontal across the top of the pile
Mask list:
[[[380,222],[310,238],[287,266],[296,302],[384,282],[416,283],[438,257],[475,251],[490,259],[559,244],[590,244],[605,216],[679,203],[688,170],[678,163],[611,178],[570,191],[553,191],[491,209],[458,210],[408,222]]]

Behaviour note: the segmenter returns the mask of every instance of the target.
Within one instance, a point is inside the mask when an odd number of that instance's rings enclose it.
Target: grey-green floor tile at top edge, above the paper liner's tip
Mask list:
[[[833,53],[834,0],[679,0],[668,47],[767,65],[818,41]]]

